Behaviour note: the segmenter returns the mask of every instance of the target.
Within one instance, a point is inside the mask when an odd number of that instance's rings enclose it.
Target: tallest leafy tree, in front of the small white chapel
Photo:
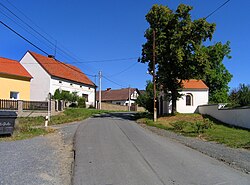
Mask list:
[[[176,11],[166,6],[153,5],[146,15],[149,28],[145,32],[147,41],[142,46],[140,61],[148,63],[149,70],[152,70],[154,30],[157,83],[166,94],[170,93],[172,114],[176,112],[182,81],[205,78],[206,70],[212,66],[209,60],[213,52],[204,46],[204,42],[212,39],[215,24],[208,23],[204,18],[192,20],[191,10],[191,6],[184,4],[180,4]]]

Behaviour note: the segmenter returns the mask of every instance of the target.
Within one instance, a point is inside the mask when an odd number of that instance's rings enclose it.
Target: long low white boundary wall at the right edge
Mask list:
[[[220,105],[204,105],[199,106],[198,111],[223,123],[250,129],[250,108],[219,109],[219,107]]]

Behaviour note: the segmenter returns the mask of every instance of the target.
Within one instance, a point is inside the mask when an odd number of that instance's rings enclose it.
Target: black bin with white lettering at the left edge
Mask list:
[[[12,135],[17,114],[13,111],[0,111],[0,135]]]

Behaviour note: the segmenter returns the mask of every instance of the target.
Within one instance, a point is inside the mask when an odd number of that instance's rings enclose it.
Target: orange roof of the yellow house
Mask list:
[[[26,69],[16,60],[0,57],[0,73],[14,76],[21,76],[31,79],[32,76]]]

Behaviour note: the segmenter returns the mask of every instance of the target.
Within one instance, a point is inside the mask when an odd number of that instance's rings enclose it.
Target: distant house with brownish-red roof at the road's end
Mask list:
[[[112,90],[108,88],[101,93],[102,102],[112,103],[116,105],[129,105],[129,97],[130,97],[130,105],[135,104],[135,100],[139,96],[139,90],[136,88],[123,88],[123,89],[115,89]],[[99,91],[96,92],[96,100],[99,101]]]

